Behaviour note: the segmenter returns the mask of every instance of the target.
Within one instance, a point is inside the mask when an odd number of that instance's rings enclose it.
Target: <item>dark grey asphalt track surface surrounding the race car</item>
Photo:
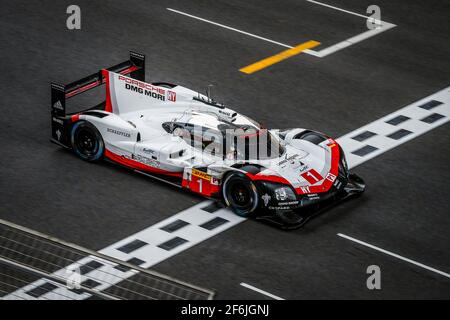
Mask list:
[[[370,1],[327,1],[364,14]],[[282,47],[177,15],[174,8],[289,45],[323,46],[365,20],[306,1],[77,1],[82,29],[66,28],[68,1],[0,3],[0,217],[90,249],[203,199],[127,170],[80,161],[49,143],[51,81],[71,82],[147,56],[148,81],[204,90],[273,128],[339,137],[450,84],[448,5],[377,1],[397,27],[322,59],[300,54],[252,75],[238,70]],[[246,221],[154,269],[222,299],[449,299],[450,280],[337,236],[450,270],[450,126],[438,127],[355,171],[366,193],[301,230]],[[366,288],[379,265],[382,289]]]

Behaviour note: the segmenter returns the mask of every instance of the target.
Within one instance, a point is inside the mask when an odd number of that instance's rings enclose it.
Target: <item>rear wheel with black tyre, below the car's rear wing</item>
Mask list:
[[[73,125],[70,141],[73,152],[86,161],[100,160],[105,151],[105,143],[100,132],[87,121],[78,121]]]

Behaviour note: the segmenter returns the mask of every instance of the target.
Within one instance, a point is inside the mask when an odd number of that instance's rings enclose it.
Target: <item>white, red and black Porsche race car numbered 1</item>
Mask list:
[[[68,99],[103,84],[105,101],[66,112]],[[332,138],[264,129],[210,94],[146,83],[139,53],[71,84],[52,83],[51,104],[51,141],[81,159],[112,161],[285,229],[365,188]]]

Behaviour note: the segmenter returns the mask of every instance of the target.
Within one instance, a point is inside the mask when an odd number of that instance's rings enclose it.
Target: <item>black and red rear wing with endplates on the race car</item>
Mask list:
[[[145,82],[145,55],[130,51],[130,58],[106,70],[127,75]],[[51,83],[52,141],[65,147],[70,146],[70,114],[66,114],[66,101],[80,93],[104,84],[102,70],[69,84]]]

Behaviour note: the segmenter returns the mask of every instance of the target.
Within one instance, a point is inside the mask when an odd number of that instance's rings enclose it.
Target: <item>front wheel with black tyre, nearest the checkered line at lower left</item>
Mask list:
[[[258,190],[253,181],[241,172],[232,172],[225,177],[222,196],[225,204],[241,217],[249,217],[258,207]]]

